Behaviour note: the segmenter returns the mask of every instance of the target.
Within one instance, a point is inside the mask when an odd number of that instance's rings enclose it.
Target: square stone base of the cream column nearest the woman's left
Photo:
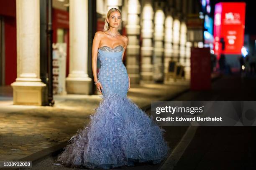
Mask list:
[[[68,94],[92,94],[92,79],[90,77],[67,77],[66,85],[66,90]]]

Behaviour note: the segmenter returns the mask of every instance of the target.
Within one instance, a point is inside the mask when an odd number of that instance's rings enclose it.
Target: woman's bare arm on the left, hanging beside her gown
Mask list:
[[[94,35],[93,42],[92,42],[92,73],[93,73],[93,80],[97,82],[97,55],[98,49],[100,45],[100,38],[101,32],[97,31]]]

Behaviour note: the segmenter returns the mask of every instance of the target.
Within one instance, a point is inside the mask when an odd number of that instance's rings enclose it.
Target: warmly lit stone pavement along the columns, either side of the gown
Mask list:
[[[143,110],[189,89],[188,80],[132,85],[128,97]],[[55,105],[13,105],[12,88],[0,87],[0,161],[20,160],[69,140],[88,123],[100,95],[54,95]]]

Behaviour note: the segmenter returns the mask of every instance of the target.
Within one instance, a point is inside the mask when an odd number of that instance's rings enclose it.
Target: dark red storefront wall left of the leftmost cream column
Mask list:
[[[17,77],[17,47],[16,47],[16,1],[0,0],[0,60],[1,84],[10,85]]]

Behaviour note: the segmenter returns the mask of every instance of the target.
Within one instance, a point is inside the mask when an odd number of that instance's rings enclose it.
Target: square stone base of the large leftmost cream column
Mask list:
[[[47,86],[43,82],[20,82],[13,87],[14,105],[47,105]]]

